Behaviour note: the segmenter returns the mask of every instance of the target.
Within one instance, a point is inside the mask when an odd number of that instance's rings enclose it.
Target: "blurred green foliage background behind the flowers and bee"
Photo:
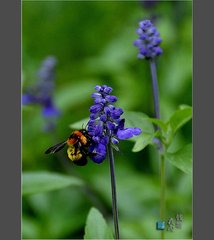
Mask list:
[[[49,171],[78,176],[87,187],[67,187],[22,198],[23,238],[83,238],[89,209],[98,208],[110,226],[111,189],[108,161],[78,167],[66,150],[44,155],[65,140],[69,124],[86,118],[90,94],[97,84],[113,87],[118,106],[153,115],[148,62],[138,60],[135,30],[138,21],[155,19],[163,42],[157,60],[161,115],[166,120],[181,104],[192,105],[192,3],[159,1],[22,1],[22,85],[36,82],[36,72],[49,55],[57,58],[54,101],[62,111],[55,132],[42,131],[39,106],[23,107],[22,171]],[[191,122],[176,135],[172,149],[192,141]],[[158,239],[159,163],[151,146],[131,152],[133,142],[120,143],[115,154],[121,238]],[[181,230],[169,239],[192,236],[192,176],[167,164],[166,217],[181,213]]]

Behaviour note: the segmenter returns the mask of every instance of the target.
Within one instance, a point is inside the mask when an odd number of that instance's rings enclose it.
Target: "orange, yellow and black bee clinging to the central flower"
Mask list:
[[[71,133],[69,138],[60,142],[45,151],[45,154],[56,153],[68,146],[67,154],[69,159],[78,166],[85,166],[87,164],[87,157],[91,155],[88,149],[92,143],[92,138],[85,129],[76,130]]]

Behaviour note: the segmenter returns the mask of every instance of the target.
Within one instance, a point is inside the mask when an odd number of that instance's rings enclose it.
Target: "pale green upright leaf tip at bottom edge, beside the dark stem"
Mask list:
[[[84,239],[113,239],[105,219],[94,207],[90,209],[86,220]]]

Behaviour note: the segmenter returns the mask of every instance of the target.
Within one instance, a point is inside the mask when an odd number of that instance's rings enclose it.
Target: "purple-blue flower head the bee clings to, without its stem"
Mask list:
[[[141,133],[140,128],[125,128],[125,119],[121,118],[123,110],[113,104],[117,97],[111,95],[112,88],[106,85],[96,86],[97,92],[92,94],[94,105],[90,107],[88,133],[92,136],[93,144],[89,151],[92,160],[101,163],[107,152],[107,145],[115,145],[119,140],[129,139]]]

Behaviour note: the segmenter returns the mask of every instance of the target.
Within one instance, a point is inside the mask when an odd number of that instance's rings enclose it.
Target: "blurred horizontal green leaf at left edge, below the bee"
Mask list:
[[[82,186],[83,181],[58,173],[25,172],[22,175],[22,194],[35,194],[62,189],[68,186]]]

